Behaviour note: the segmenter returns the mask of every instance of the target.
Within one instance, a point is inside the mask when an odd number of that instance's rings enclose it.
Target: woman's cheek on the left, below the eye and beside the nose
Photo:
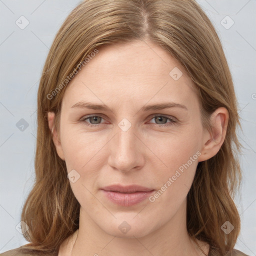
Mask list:
[[[67,172],[72,171],[75,182],[70,179],[71,189],[81,205],[90,204],[90,208],[99,210],[97,200],[92,195],[95,193],[94,185],[99,179],[102,163],[106,161],[103,156],[102,136],[89,134],[77,130],[63,130],[62,148],[65,155]],[[105,144],[105,143],[104,143]],[[100,150],[101,149],[101,150]],[[75,171],[74,171],[75,170]],[[70,175],[71,176],[71,175]]]

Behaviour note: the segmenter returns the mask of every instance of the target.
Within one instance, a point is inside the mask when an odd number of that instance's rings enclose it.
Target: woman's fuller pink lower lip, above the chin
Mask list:
[[[148,192],[135,192],[135,193],[120,193],[120,192],[114,192],[114,191],[105,191],[101,189],[105,196],[110,199],[113,203],[122,205],[122,206],[131,206],[134,204],[137,204],[139,202],[142,202],[146,198],[149,197],[149,195],[154,191],[148,191]]]

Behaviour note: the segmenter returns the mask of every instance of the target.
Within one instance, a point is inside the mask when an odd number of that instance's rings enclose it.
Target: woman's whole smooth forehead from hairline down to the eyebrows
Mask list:
[[[171,77],[171,70],[182,72],[178,80]],[[70,101],[69,107],[80,99],[119,105],[159,99],[194,103],[192,86],[190,77],[168,52],[151,41],[137,40],[99,47],[68,83],[63,101]]]

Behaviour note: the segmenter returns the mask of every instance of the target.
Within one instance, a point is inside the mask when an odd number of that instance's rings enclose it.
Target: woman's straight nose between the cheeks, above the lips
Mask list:
[[[108,142],[109,157],[108,164],[115,170],[121,172],[135,171],[144,164],[143,143],[130,127],[123,131],[117,127],[116,134]]]

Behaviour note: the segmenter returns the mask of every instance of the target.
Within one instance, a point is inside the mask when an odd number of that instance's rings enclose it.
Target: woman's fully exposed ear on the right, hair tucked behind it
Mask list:
[[[228,124],[228,111],[225,107],[217,108],[210,116],[212,133],[205,130],[198,161],[204,161],[214,156],[224,142]]]

